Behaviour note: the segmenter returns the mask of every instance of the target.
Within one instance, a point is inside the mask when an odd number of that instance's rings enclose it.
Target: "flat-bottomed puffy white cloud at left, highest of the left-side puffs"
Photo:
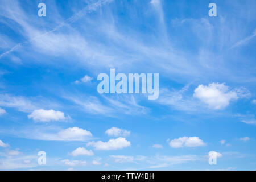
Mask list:
[[[28,115],[28,118],[32,118],[34,121],[50,122],[50,121],[61,121],[66,119],[65,115],[61,111],[55,110],[44,110],[38,109],[34,110]]]

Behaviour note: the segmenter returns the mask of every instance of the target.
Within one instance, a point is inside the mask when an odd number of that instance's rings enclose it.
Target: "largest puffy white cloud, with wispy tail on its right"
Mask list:
[[[211,109],[224,109],[232,100],[237,100],[239,97],[247,97],[250,93],[243,88],[229,90],[229,87],[224,83],[212,83],[208,86],[199,85],[195,90],[193,97],[199,98],[207,104]]]

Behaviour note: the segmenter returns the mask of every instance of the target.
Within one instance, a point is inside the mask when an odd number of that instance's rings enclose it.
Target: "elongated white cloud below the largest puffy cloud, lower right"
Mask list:
[[[181,147],[205,146],[205,143],[199,137],[180,137],[180,138],[171,140],[169,145],[172,148],[181,148]]]

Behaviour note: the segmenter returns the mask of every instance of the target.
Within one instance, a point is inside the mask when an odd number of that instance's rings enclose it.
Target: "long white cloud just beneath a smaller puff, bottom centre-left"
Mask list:
[[[95,150],[118,150],[129,147],[131,143],[126,138],[119,137],[116,139],[110,139],[108,142],[89,142],[87,146],[93,146]]]

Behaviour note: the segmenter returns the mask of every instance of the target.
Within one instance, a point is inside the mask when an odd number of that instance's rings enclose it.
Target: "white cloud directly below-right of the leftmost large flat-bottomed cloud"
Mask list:
[[[92,137],[92,133],[79,127],[69,127],[59,131],[58,137],[66,141],[84,141],[86,137]]]

